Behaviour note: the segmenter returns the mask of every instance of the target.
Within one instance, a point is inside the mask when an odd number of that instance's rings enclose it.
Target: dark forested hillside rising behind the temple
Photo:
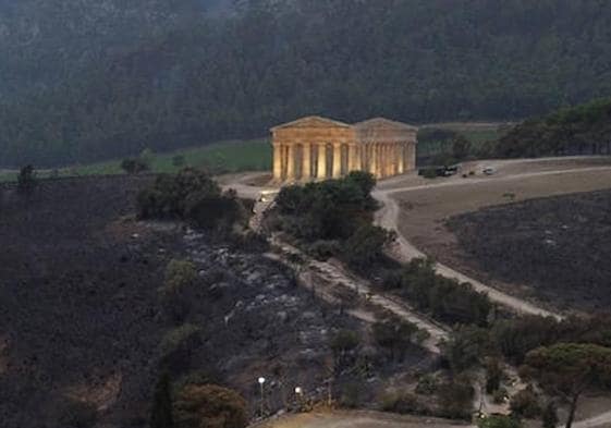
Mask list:
[[[261,136],[301,114],[514,120],[611,95],[601,0],[123,3],[0,0],[0,166]]]

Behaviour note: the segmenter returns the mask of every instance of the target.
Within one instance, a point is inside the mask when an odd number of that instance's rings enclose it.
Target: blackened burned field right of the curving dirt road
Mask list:
[[[533,199],[451,218],[463,262],[550,303],[611,304],[611,191]]]

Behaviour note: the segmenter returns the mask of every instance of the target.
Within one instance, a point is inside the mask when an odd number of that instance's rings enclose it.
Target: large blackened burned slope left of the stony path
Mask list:
[[[0,420],[4,428],[146,426],[161,368],[160,344],[175,327],[158,289],[172,258],[194,260],[201,278],[185,322],[199,340],[179,355],[173,380],[206,378],[242,393],[258,409],[283,407],[301,386],[326,396],[331,335],[367,326],[295,285],[292,272],[261,254],[212,241],[182,224],[133,218],[150,178],[41,182],[29,195],[1,189]],[[375,353],[374,353],[375,356]],[[361,404],[383,379],[427,365],[410,351],[356,378]],[[163,368],[164,369],[164,368]],[[334,394],[354,376],[339,378]],[[344,382],[344,383],[342,383]]]

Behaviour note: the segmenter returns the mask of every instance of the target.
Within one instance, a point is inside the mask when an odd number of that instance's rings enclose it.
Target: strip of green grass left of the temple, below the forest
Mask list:
[[[271,146],[266,138],[219,142],[203,147],[181,149],[150,156],[151,172],[176,172],[184,168],[174,164],[175,157],[184,159],[184,167],[205,168],[213,174],[271,170]],[[0,182],[15,181],[16,171],[0,170]],[[121,159],[57,170],[38,170],[37,176],[63,178],[80,175],[113,175],[124,173]]]

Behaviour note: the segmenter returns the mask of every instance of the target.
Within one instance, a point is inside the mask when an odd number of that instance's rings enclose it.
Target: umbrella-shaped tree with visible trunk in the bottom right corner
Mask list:
[[[569,402],[566,428],[571,428],[582,393],[611,382],[611,348],[579,343],[539,347],[526,355],[525,376],[534,376],[548,392]]]

